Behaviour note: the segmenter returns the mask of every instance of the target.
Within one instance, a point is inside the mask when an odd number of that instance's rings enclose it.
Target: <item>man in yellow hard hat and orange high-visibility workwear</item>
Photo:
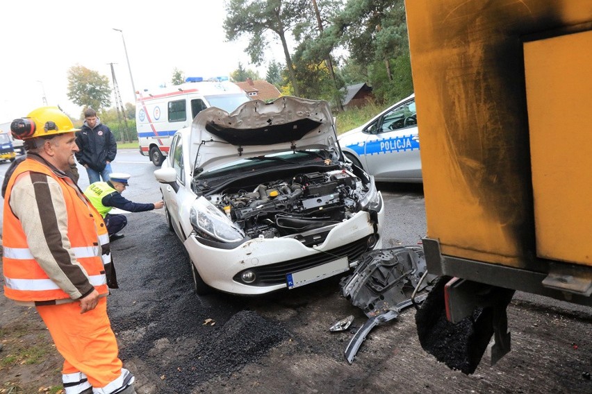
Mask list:
[[[10,130],[28,154],[8,169],[3,189],[4,295],[37,308],[65,359],[66,394],[133,394],[107,316],[106,227],[67,175],[77,130],[57,107],[38,108]]]

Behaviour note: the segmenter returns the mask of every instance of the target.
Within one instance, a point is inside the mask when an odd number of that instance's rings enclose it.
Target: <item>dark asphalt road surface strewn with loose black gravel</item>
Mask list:
[[[0,164],[0,175],[8,164]],[[156,169],[120,151],[113,171],[131,173],[127,198],[160,198]],[[81,169],[79,185],[88,178]],[[425,235],[418,185],[379,184],[385,247]],[[344,350],[366,318],[339,293],[339,278],[263,297],[198,297],[186,252],[162,209],[129,214],[112,244],[120,289],[109,314],[138,393],[592,393],[592,312],[518,295],[509,307],[513,350],[473,375],[449,370],[420,347],[413,308],[375,328],[350,365]],[[329,327],[354,315],[352,331]]]

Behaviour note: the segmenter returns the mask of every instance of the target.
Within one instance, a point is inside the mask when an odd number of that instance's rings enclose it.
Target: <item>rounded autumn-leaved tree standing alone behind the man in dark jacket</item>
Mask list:
[[[67,71],[67,96],[72,103],[97,112],[111,105],[109,78],[101,76],[81,65],[72,66]]]

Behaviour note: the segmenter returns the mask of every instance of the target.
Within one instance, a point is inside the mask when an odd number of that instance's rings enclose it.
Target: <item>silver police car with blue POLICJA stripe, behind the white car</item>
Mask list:
[[[422,182],[415,94],[339,136],[345,156],[380,182]]]

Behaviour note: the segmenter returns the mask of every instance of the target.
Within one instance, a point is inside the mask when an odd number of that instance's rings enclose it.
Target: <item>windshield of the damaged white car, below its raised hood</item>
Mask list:
[[[330,162],[326,162],[330,160]],[[215,167],[209,171],[199,174],[199,179],[212,179],[224,177],[229,174],[236,174],[245,171],[263,171],[265,169],[277,168],[279,165],[303,166],[303,165],[324,165],[332,164],[331,153],[324,150],[311,149],[309,151],[295,151],[274,153],[271,155],[248,157],[236,160],[222,166]]]

